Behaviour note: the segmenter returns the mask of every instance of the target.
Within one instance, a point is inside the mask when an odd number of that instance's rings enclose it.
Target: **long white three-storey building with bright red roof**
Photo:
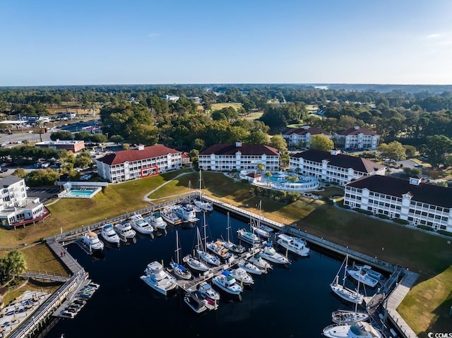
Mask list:
[[[160,172],[180,169],[182,152],[165,145],[121,150],[96,159],[97,174],[106,181],[117,183],[157,175]]]

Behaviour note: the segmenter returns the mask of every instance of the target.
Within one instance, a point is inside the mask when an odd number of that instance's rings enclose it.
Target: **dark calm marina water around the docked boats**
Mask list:
[[[202,219],[202,216],[200,216]],[[208,238],[227,236],[227,215],[207,216]],[[233,219],[231,234],[246,223]],[[201,226],[201,222],[198,224]],[[245,289],[242,301],[226,301],[222,294],[216,311],[196,315],[182,299],[182,291],[165,298],[139,277],[148,262],[164,261],[168,266],[179,232],[182,255],[195,245],[196,229],[167,227],[166,236],[139,236],[136,243],[104,250],[103,259],[86,255],[78,246],[69,253],[100,284],[94,296],[74,319],[61,319],[45,337],[153,337],[156,334],[183,334],[184,337],[321,337],[331,324],[331,312],[350,308],[335,296],[329,284],[342,264],[311,250],[309,258],[290,255],[289,267],[277,267],[266,275],[254,276],[255,284]],[[201,232],[202,233],[202,232]],[[353,282],[347,280],[349,286]]]

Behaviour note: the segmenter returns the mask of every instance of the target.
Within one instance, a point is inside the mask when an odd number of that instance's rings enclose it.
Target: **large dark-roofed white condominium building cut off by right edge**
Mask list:
[[[452,188],[388,176],[367,176],[347,183],[344,205],[400,218],[412,225],[452,231]]]

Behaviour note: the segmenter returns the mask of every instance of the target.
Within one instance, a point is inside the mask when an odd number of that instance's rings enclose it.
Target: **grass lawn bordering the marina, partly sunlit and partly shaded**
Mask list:
[[[149,205],[143,202],[145,195],[181,172],[112,184],[92,200],[59,200],[49,206],[52,216],[42,224],[17,230],[0,229],[0,246],[32,243],[58,234],[60,227],[68,231],[141,209]],[[197,188],[198,173],[190,172],[170,181],[150,194],[149,198],[160,203],[177,195],[195,192]],[[232,181],[224,174],[204,172],[202,188],[203,193],[213,198],[244,207],[251,212],[258,213],[258,204],[261,202],[262,214],[270,219],[284,224],[296,222],[310,234],[420,273],[417,285],[400,306],[405,320],[417,333],[427,330],[446,332],[444,325],[450,325],[448,308],[452,305],[452,246],[448,245],[446,239],[380,219],[356,215],[321,200],[303,199],[291,205],[275,203],[267,198],[250,195],[251,184]],[[322,194],[328,197],[340,191],[340,188],[331,186]],[[40,253],[40,249],[47,253]],[[28,247],[23,252],[27,255],[29,267],[33,269],[40,267],[40,261],[45,262],[42,266],[46,270],[52,270],[53,265],[58,265],[58,261],[49,255],[45,246]]]

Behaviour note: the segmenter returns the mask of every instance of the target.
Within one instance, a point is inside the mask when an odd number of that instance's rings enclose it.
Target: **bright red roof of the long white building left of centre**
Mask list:
[[[114,152],[97,159],[97,161],[104,162],[109,165],[115,165],[122,164],[124,162],[140,161],[141,159],[152,159],[154,157],[165,156],[168,154],[177,154],[179,152],[179,150],[165,147],[165,145],[152,145],[150,147],[144,147],[143,150],[129,149]]]

